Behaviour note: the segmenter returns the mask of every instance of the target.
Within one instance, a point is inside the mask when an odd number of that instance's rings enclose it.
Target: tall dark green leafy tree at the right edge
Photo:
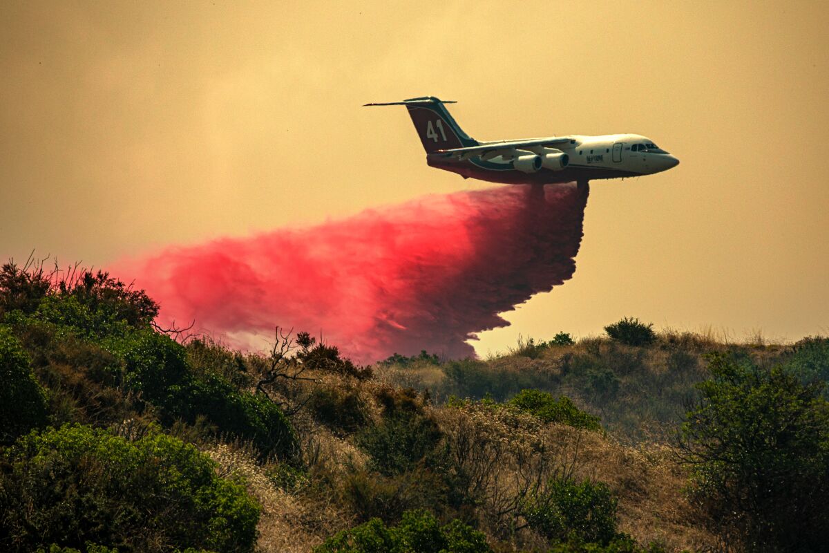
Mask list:
[[[749,551],[824,551],[829,542],[826,384],[795,371],[710,358],[680,446],[691,489]]]

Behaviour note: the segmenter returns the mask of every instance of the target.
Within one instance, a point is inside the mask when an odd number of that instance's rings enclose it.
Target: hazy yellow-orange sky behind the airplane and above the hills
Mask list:
[[[104,266],[486,186],[402,108],[478,139],[641,133],[681,159],[594,182],[573,279],[519,333],[829,332],[824,2],[2,2],[0,255]]]

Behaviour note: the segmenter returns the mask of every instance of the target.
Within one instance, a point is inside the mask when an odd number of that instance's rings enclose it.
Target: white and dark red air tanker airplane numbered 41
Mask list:
[[[554,136],[478,142],[470,138],[434,96],[385,102],[405,105],[426,150],[430,167],[504,184],[552,184],[640,177],[676,167],[679,160],[641,134]]]

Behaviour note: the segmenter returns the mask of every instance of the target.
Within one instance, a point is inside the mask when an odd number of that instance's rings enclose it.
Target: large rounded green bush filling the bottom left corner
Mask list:
[[[216,463],[164,434],[136,442],[81,425],[17,441],[2,458],[0,546],[87,541],[125,551],[253,551],[259,507]]]

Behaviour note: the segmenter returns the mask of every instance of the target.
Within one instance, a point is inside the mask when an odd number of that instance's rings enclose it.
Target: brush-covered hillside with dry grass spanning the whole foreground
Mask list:
[[[763,509],[787,530],[827,520],[803,491],[827,489],[826,338],[723,343],[626,319],[486,360],[356,366],[307,333],[237,352],[157,314],[106,274],[2,268],[4,551],[807,551]],[[749,417],[772,438],[737,454],[781,452],[774,485],[812,518],[789,521],[770,492],[723,514],[704,433],[714,407],[740,419],[728,405],[792,406],[785,424]]]

